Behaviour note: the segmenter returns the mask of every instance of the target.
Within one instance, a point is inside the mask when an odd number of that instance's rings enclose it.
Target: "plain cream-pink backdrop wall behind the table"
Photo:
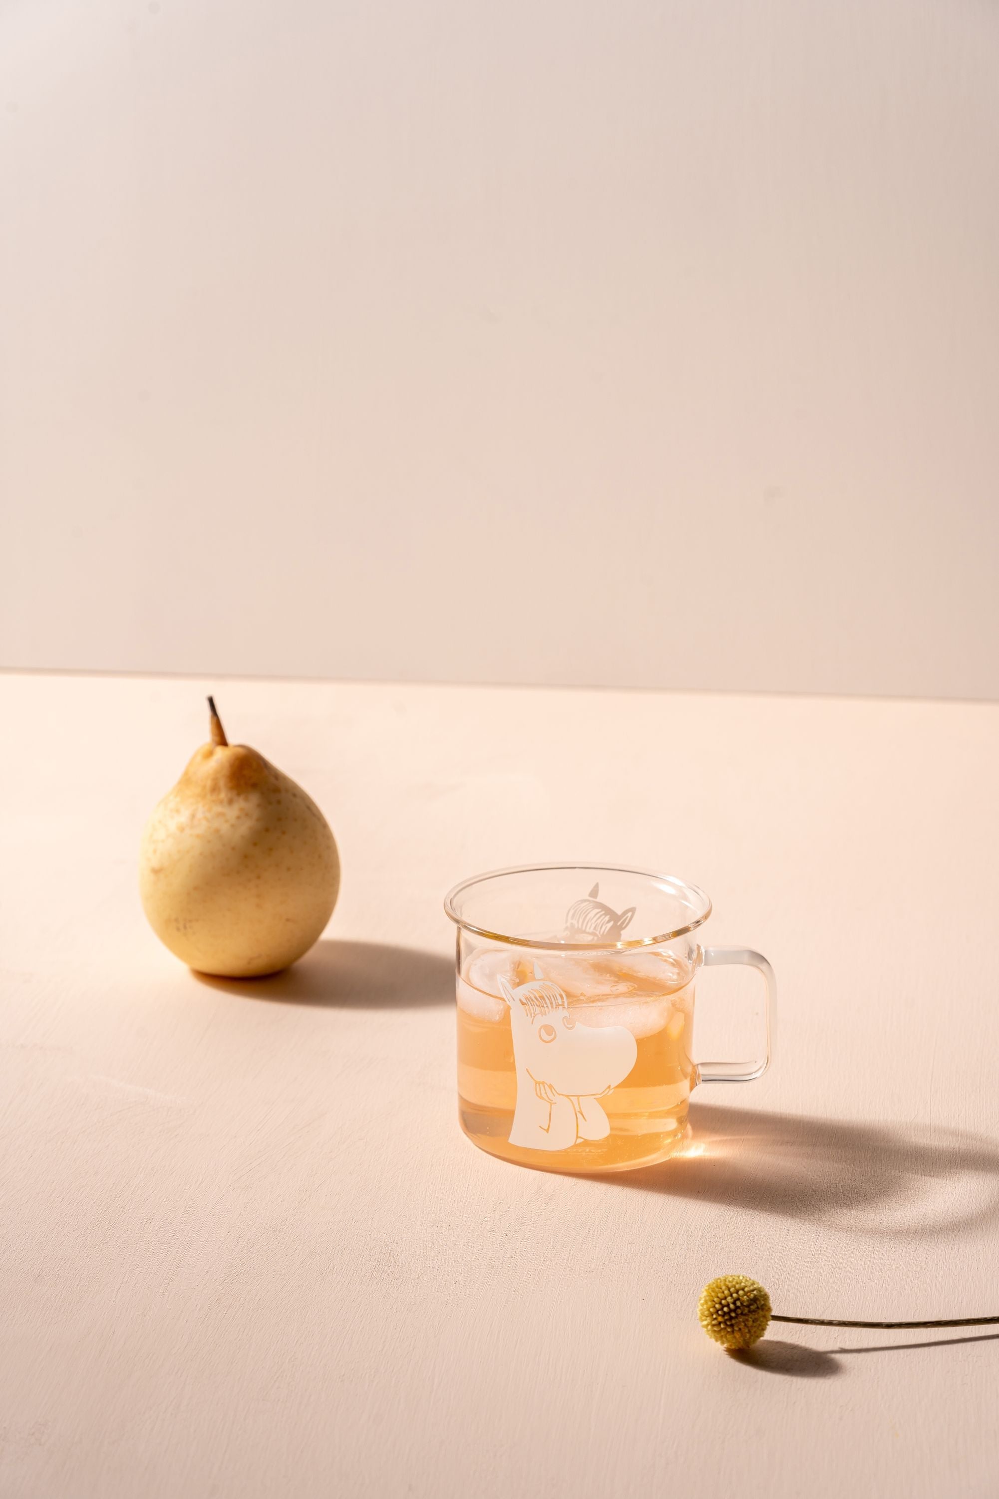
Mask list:
[[[999,697],[986,0],[6,0],[1,663]]]

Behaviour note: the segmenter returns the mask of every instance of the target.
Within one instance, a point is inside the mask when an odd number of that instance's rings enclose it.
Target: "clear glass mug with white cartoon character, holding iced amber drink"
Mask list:
[[[773,968],[701,947],[702,890],[592,863],[497,869],[457,884],[458,1118],[481,1150],[548,1171],[628,1171],[684,1144],[698,1082],[770,1064]],[[693,979],[744,962],[767,985],[755,1061],[690,1060]]]

